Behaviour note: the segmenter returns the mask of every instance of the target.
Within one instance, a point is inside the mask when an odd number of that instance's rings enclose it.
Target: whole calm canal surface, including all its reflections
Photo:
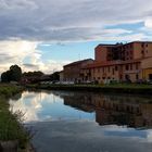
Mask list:
[[[10,100],[37,152],[152,152],[152,98],[25,91]]]

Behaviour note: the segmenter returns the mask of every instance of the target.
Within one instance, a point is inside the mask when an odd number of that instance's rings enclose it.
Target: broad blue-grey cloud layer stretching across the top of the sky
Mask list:
[[[107,25],[144,22],[151,26],[151,0],[1,0],[0,39],[94,40],[99,34],[104,37]]]

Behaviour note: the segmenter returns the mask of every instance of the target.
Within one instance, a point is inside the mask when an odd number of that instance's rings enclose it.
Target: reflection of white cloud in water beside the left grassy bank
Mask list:
[[[22,111],[24,115],[25,123],[46,121],[48,118],[48,113],[45,114],[43,110],[55,102],[61,102],[62,99],[54,97],[50,92],[40,92],[36,94],[35,92],[25,91],[22,98],[17,101],[10,100],[10,109],[13,112]],[[51,118],[51,112],[49,113],[49,118]]]

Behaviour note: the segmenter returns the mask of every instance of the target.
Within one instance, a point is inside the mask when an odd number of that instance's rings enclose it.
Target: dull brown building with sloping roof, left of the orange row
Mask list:
[[[65,81],[80,81],[80,69],[88,64],[91,64],[93,60],[87,59],[71,64],[64,65],[64,80]]]

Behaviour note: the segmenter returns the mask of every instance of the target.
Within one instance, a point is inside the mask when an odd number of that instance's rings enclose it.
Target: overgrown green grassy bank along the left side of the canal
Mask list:
[[[20,152],[29,151],[29,134],[22,125],[22,112],[12,113],[9,109],[9,99],[21,93],[23,87],[0,84],[0,150]],[[14,152],[13,151],[13,152]]]

